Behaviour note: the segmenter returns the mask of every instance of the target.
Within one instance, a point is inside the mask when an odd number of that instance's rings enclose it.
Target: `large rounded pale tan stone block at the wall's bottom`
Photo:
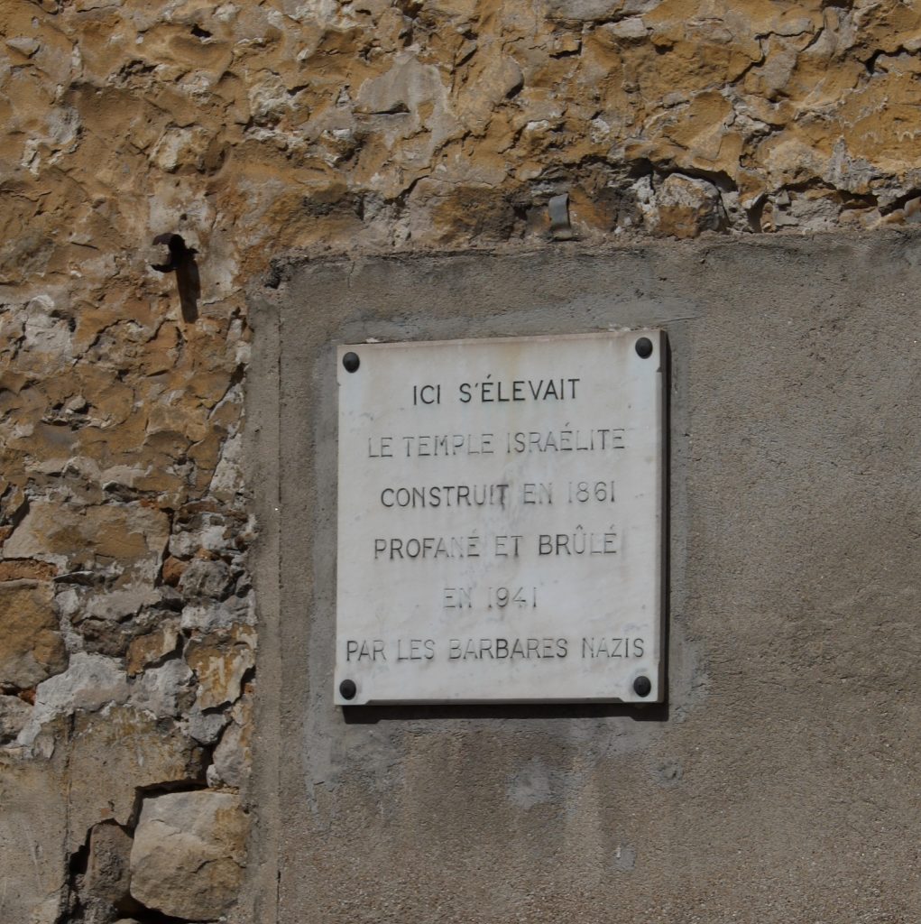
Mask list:
[[[219,918],[236,901],[247,826],[230,793],[144,799],[131,850],[131,894],[176,918]]]

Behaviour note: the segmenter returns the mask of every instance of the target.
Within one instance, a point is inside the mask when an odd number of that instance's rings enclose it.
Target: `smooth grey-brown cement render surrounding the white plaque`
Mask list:
[[[291,264],[254,294],[280,921],[917,917],[919,255],[566,244]],[[335,707],[335,346],[639,326],[672,348],[668,702]]]

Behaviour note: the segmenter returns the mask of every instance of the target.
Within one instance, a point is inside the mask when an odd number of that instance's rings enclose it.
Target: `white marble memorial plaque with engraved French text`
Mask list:
[[[338,704],[663,699],[664,346],[339,348]]]

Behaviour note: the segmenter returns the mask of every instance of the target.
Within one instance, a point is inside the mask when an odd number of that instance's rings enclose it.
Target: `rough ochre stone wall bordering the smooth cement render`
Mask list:
[[[563,193],[591,244],[913,221],[921,11],[0,10],[0,918],[243,919],[248,286],[552,247]]]

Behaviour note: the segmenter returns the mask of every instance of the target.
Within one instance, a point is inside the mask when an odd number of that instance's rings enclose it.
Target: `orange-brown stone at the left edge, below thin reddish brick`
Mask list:
[[[66,667],[51,585],[0,583],[0,684],[34,687]]]

